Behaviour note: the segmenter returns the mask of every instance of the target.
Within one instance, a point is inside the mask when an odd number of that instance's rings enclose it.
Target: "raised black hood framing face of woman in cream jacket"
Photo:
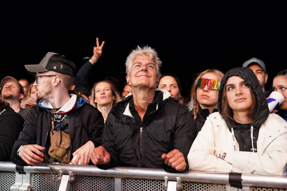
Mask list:
[[[262,88],[260,87],[260,84],[257,80],[257,77],[255,76],[254,72],[248,67],[233,68],[233,69],[229,70],[228,72],[226,72],[225,75],[223,76],[221,84],[220,84],[219,92],[218,92],[218,111],[219,111],[219,113],[222,114],[220,103],[221,103],[223,88],[224,88],[226,81],[231,76],[239,76],[239,77],[243,78],[251,86],[252,91],[256,94],[256,97],[258,100],[257,101],[258,102],[257,113],[254,117],[254,120],[253,120],[251,126],[259,127],[267,119],[267,117],[269,115],[268,103],[267,103],[266,97],[264,96]],[[225,119],[226,124],[228,125],[229,128],[232,127],[230,120],[231,119],[229,119],[229,118]],[[232,123],[232,124],[234,124],[234,123]]]

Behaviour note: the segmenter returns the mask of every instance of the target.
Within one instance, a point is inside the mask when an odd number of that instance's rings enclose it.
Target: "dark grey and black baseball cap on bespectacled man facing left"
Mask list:
[[[48,52],[39,64],[25,65],[25,68],[32,75],[36,75],[37,72],[54,71],[73,76],[76,65],[64,55]]]

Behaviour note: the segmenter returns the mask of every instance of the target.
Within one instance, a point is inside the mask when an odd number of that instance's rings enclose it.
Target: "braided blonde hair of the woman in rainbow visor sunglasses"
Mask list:
[[[220,70],[217,70],[217,69],[207,69],[207,70],[202,71],[201,73],[196,74],[197,77],[193,81],[193,85],[192,85],[191,90],[190,90],[190,97],[191,97],[191,100],[193,100],[193,105],[194,105],[194,107],[193,107],[194,121],[196,120],[197,113],[199,112],[199,102],[197,100],[196,83],[197,83],[199,78],[201,78],[204,74],[207,74],[207,73],[213,73],[218,78],[217,79],[218,81],[221,81],[223,76],[224,76],[224,73]]]

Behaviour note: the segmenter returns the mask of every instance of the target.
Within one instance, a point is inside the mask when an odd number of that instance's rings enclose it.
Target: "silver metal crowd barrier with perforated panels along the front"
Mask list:
[[[0,162],[0,190],[27,191],[287,191],[287,176],[187,171],[92,165]]]

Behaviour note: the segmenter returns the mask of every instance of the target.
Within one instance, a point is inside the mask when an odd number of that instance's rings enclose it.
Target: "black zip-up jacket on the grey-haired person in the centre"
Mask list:
[[[174,98],[163,100],[163,93],[155,91],[141,123],[132,96],[128,96],[108,114],[102,144],[111,155],[111,163],[98,167],[164,168],[178,172],[161,159],[163,153],[178,149],[184,154],[187,170],[187,154],[196,133],[191,113]]]

